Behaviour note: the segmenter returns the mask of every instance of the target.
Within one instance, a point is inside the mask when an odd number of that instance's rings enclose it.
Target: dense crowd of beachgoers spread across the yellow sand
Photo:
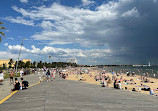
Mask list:
[[[79,81],[93,81],[90,78],[94,78],[98,84],[100,83],[102,87],[113,87],[114,89],[130,90],[134,92],[148,92],[146,94],[151,94],[157,96],[158,87],[153,88],[155,81],[149,78],[148,72],[142,73],[142,75],[136,75],[134,71],[115,72],[113,70],[103,70],[101,68],[67,68],[66,73],[68,75],[76,75],[76,79]],[[88,78],[87,78],[88,76]],[[72,76],[74,77],[74,76]],[[74,80],[76,80],[74,78]],[[150,80],[151,79],[151,80]],[[96,83],[92,82],[92,83]],[[157,84],[157,83],[156,83]]]

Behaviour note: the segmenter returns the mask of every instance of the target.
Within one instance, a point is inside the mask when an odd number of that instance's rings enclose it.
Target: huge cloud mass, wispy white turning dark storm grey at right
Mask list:
[[[96,49],[95,52],[93,50],[69,51],[48,46],[41,49],[47,53],[58,52],[63,57],[80,55],[81,58],[94,57],[120,61],[120,58],[126,58],[127,61],[133,62],[142,57],[144,61],[153,57],[151,54],[158,48],[156,43],[158,33],[155,30],[158,28],[158,7],[156,0],[153,1],[119,0],[116,2],[112,0],[97,6],[94,10],[57,3],[49,7],[43,5],[24,9],[13,6],[12,9],[19,12],[23,18],[37,22],[43,29],[31,36],[35,40],[47,42],[49,45],[79,44],[82,48],[92,49],[104,46],[110,50],[110,52],[103,49],[101,52]],[[93,1],[83,0],[82,2],[88,4]],[[85,52],[89,55],[87,56]],[[158,53],[154,54],[155,58],[157,56]]]

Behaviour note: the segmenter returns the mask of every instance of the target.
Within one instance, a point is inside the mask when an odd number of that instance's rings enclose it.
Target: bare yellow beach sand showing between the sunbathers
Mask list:
[[[72,74],[72,72],[69,72],[69,76],[66,79],[88,82],[88,83],[92,83],[92,84],[98,84],[101,86],[101,84],[100,84],[101,82],[96,81],[94,79],[95,75],[97,75],[97,74],[99,74],[99,71],[97,71],[97,70],[90,70],[89,74],[83,73],[82,75]],[[110,78],[112,78],[112,76],[113,76],[113,74],[111,74],[111,73],[106,73],[106,75],[109,76]],[[132,76],[128,77],[128,76],[126,76],[126,74],[120,74],[119,77],[117,77],[117,78],[120,79],[121,76],[123,79],[126,79],[126,80],[133,79],[133,81],[136,83],[136,84],[132,84],[132,85],[131,84],[127,85],[125,82],[122,82],[123,90],[125,90],[125,87],[127,87],[128,91],[132,91],[132,89],[135,88],[137,92],[149,95],[150,94],[149,91],[139,90],[140,88],[143,88],[143,87],[141,87],[141,84],[148,86],[152,89],[158,88],[158,79],[156,79],[156,78],[149,77],[150,81],[152,81],[153,83],[144,83],[144,82],[141,82],[140,75],[135,75],[135,77],[132,77]],[[108,85],[108,87],[113,87],[113,81],[111,84]],[[158,91],[155,91],[155,93],[158,94]]]

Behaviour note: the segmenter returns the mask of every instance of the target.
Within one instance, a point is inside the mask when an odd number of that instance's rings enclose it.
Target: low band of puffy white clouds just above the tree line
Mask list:
[[[8,47],[8,52],[14,55],[17,55],[20,50],[20,45],[5,45]],[[68,59],[75,58],[79,63],[82,63],[82,60],[87,63],[91,62],[93,59],[100,59],[102,57],[109,57],[112,53],[110,49],[68,49],[68,48],[55,48],[50,46],[45,46],[42,49],[36,48],[34,45],[31,46],[32,49],[22,47],[21,54],[24,57],[38,56],[41,57],[51,55],[53,58],[58,60],[67,61]],[[23,58],[24,58],[23,57]],[[91,58],[91,59],[90,59]]]

